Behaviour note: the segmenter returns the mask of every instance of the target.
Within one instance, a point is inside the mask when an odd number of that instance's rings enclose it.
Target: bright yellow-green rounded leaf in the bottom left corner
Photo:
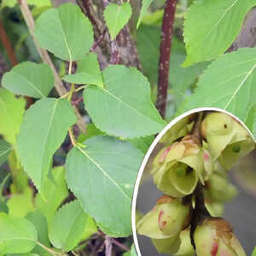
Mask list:
[[[0,213],[0,253],[29,253],[36,246],[38,233],[25,218]]]

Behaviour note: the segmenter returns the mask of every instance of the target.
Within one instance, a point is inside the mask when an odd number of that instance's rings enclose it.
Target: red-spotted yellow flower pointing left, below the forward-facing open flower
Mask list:
[[[157,205],[138,222],[137,232],[154,239],[169,238],[187,228],[190,220],[191,206],[163,195]]]

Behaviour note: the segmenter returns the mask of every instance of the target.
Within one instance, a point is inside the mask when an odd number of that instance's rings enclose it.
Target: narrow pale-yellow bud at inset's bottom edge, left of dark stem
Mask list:
[[[175,256],[194,256],[195,255],[195,250],[194,247],[191,244],[190,240],[190,229],[183,230],[180,233],[180,239],[181,239],[181,245],[175,253]]]

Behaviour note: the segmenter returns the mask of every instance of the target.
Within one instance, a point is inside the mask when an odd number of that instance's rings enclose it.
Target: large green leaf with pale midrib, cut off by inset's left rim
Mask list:
[[[113,137],[92,137],[84,145],[67,154],[68,187],[108,235],[131,235],[131,196],[143,154]]]

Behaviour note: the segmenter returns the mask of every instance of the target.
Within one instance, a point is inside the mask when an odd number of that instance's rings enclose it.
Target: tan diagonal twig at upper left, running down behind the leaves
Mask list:
[[[55,89],[57,90],[58,94],[60,96],[65,95],[67,93],[67,90],[64,86],[64,84],[61,81],[61,78],[59,74],[57,73],[55,66],[53,62],[51,61],[48,52],[45,49],[42,49],[39,47],[37,39],[34,37],[34,30],[35,30],[35,22],[32,17],[32,13],[26,3],[26,0],[18,0],[18,3],[20,3],[20,10],[23,15],[24,20],[26,21],[26,26],[28,27],[28,30],[33,38],[33,41],[36,45],[36,48],[38,50],[38,54],[40,55],[41,59],[44,61],[44,63],[48,64],[51,70],[54,73],[55,76]],[[86,132],[86,124],[84,122],[83,117],[79,113],[79,109],[73,106],[74,111],[78,117],[78,126],[80,131]]]

